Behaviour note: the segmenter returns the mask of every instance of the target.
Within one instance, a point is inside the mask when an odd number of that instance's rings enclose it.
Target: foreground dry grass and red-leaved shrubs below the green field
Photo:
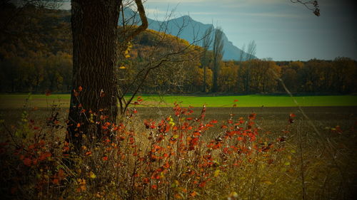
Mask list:
[[[58,120],[64,125],[65,110],[55,121],[57,110],[29,110],[30,114],[20,120],[15,116],[20,116],[21,110],[1,110],[6,116],[1,138],[6,143],[0,147],[0,175],[7,183],[1,188],[1,196],[353,199],[356,107],[303,110],[320,134],[294,107],[208,108],[206,117],[197,121],[194,119],[200,119],[201,109],[194,109],[192,115],[186,115],[186,110],[176,116],[172,108],[138,108],[136,116],[124,124],[108,126],[108,130],[117,129],[116,137],[96,142],[86,137],[81,154],[71,155],[71,167],[63,162],[62,149],[67,147],[62,142],[64,127],[51,123]],[[257,113],[256,119],[248,117],[251,112]],[[291,112],[296,117],[289,117]],[[196,130],[201,131],[199,135]]]

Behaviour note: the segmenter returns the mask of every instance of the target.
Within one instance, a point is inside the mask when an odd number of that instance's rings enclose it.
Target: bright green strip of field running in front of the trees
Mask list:
[[[141,106],[145,107],[172,107],[174,102],[180,102],[182,106],[201,107],[231,107],[236,103],[237,107],[294,107],[296,103],[288,95],[141,95],[144,99]],[[29,107],[60,107],[69,106],[69,94],[54,95],[0,95],[0,108],[22,107],[29,98]],[[298,105],[311,106],[356,106],[357,95],[325,95],[325,96],[298,96],[294,97]],[[233,102],[238,100],[238,102]]]

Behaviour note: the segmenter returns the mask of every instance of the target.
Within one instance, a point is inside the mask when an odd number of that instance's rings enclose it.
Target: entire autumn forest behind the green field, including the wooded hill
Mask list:
[[[1,9],[0,85],[1,93],[69,93],[72,77],[71,12],[6,4]],[[136,74],[150,59],[171,46],[188,46],[187,41],[156,31],[144,31],[134,38],[118,63],[121,86],[131,90]],[[203,91],[202,48],[178,55],[175,62],[151,71],[141,93],[209,93],[213,63],[206,63],[206,90]],[[151,52],[158,52],[152,55]],[[208,57],[212,53],[208,51]],[[181,60],[181,61],[177,61]],[[218,93],[285,93],[281,81],[292,93],[356,93],[357,62],[335,60],[222,61],[218,71]],[[280,80],[279,80],[280,79]]]

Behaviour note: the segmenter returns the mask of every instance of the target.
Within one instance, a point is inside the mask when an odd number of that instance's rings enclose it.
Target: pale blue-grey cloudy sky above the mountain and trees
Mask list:
[[[295,0],[293,0],[295,1]],[[258,58],[357,60],[354,0],[318,0],[321,16],[291,0],[146,0],[146,14],[163,20],[189,15],[220,26],[233,45],[256,42]]]

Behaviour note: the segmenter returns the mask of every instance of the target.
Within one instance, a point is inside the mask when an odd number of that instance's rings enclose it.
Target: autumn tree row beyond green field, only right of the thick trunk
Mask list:
[[[213,91],[213,64],[206,69],[206,86],[203,84],[204,68],[187,66],[181,71],[181,83],[174,85],[169,77],[148,80],[144,93],[206,93]],[[249,70],[249,73],[247,71]],[[273,60],[221,61],[218,71],[218,93],[286,93],[282,83],[291,93],[356,93],[357,63],[350,58],[335,60],[308,60],[275,62]],[[156,78],[158,78],[156,80]],[[155,81],[161,81],[158,85]]]

